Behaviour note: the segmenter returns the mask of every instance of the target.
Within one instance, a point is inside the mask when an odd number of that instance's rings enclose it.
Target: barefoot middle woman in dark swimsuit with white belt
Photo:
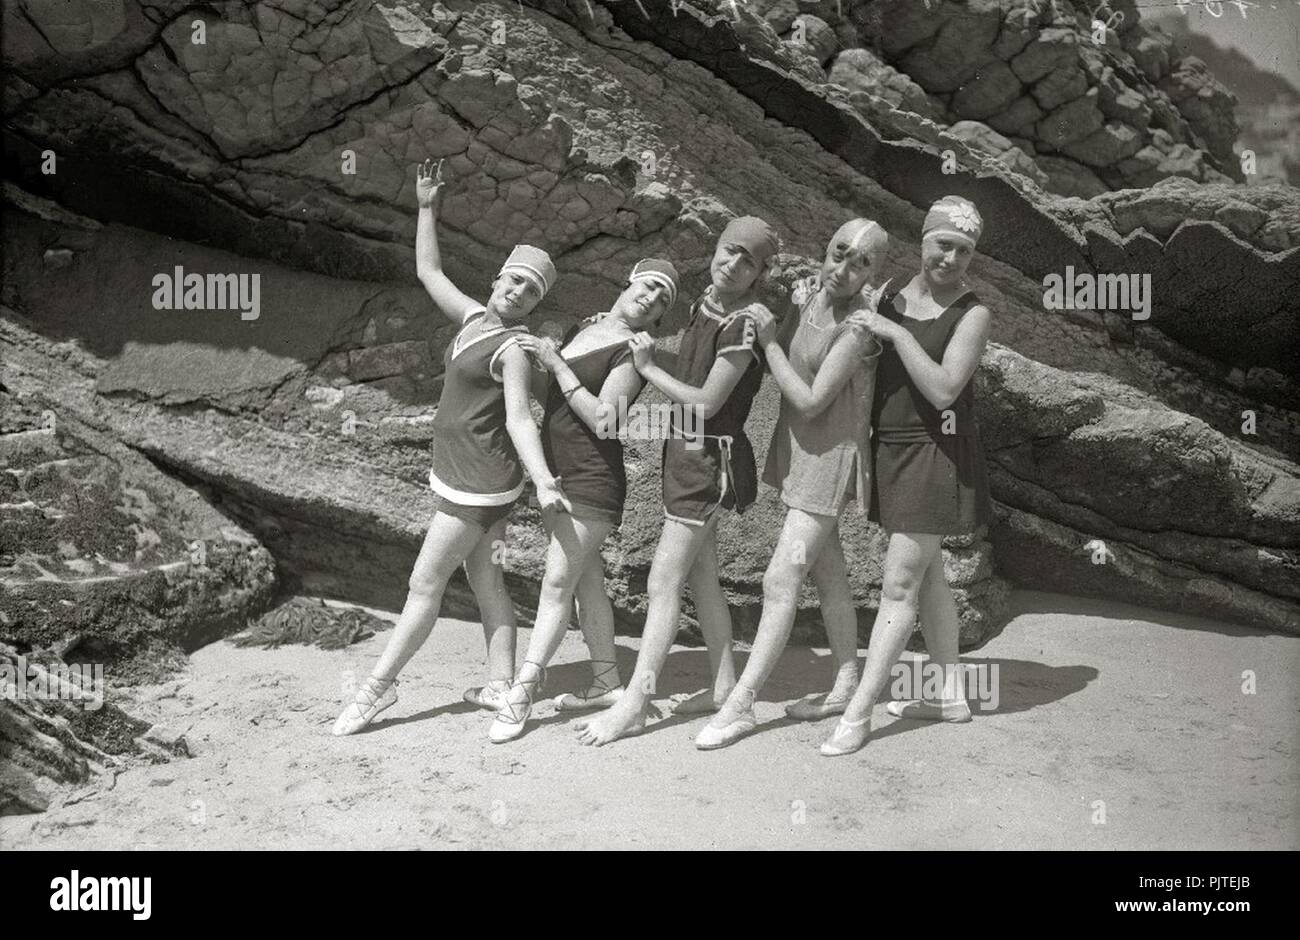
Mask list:
[[[736,684],[716,530],[724,510],[744,512],[758,491],[745,419],[763,381],[754,321],[767,308],[758,300],[758,289],[779,247],[776,230],[762,218],[744,216],[727,224],[714,248],[711,283],[692,304],[672,374],[655,364],[649,334],[630,341],[637,372],[672,402],[696,410],[701,420],[698,432],[677,429],[664,441],[664,524],[650,564],[634,681],[612,707],[576,725],[584,744],[602,746],[645,727],[688,585],[708,647],[712,683],[677,705],[676,712],[716,711]]]

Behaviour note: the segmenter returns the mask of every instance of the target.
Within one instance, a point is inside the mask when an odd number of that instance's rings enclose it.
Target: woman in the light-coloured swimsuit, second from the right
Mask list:
[[[858,685],[858,618],[840,543],[840,516],[871,490],[871,394],[880,343],[850,315],[870,308],[889,238],[876,222],[854,218],[826,247],[822,272],[796,286],[797,311],[784,342],[771,313],[758,317],[758,342],[781,389],[781,411],[763,481],[781,491],[785,524],[763,575],[763,615],[745,671],[727,703],[696,737],[701,750],[725,748],[757,725],[754,701],[794,627],[800,589],[816,582],[836,664],[831,690],[786,707],[797,720],[837,715]]]

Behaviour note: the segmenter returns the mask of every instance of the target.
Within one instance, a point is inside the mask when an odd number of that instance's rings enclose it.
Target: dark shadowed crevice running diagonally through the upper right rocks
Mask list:
[[[753,40],[753,30],[727,17],[707,16],[692,7],[682,7],[671,16],[668,0],[645,0],[651,18],[642,17],[627,4],[602,4],[614,22],[628,35],[654,43],[676,57],[696,61],[745,94],[766,113],[793,127],[811,134],[827,151],[840,156],[854,170],[879,181],[890,192],[916,207],[926,207],[946,192],[957,192],[984,208],[985,237],[982,251],[1004,260],[1035,280],[1063,273],[1066,267],[1087,273],[1124,273],[1135,267],[1153,272],[1160,285],[1157,312],[1150,322],[1179,342],[1230,364],[1265,364],[1300,378],[1300,302],[1286,283],[1300,282],[1300,250],[1282,259],[1262,257],[1260,252],[1227,231],[1212,228],[1209,242],[1190,250],[1170,238],[1164,250],[1141,259],[1124,259],[1110,252],[1097,255],[1095,239],[1062,224],[1045,224],[1053,211],[1040,196],[1010,183],[1004,174],[991,170],[945,176],[939,150],[913,140],[887,140],[864,118],[846,104],[836,103],[824,88],[789,70],[786,53]],[[555,4],[536,4],[552,10]],[[580,20],[580,18],[578,18]],[[580,20],[581,23],[581,20]],[[745,36],[742,39],[741,36]],[[1193,185],[1195,186],[1195,185]],[[1300,220],[1297,220],[1300,221]],[[1001,234],[998,234],[1001,229]],[[1101,229],[1097,226],[1097,235]],[[1118,235],[1104,235],[1118,241]],[[1234,246],[1235,243],[1235,246]],[[1191,265],[1205,272],[1208,255],[1227,254],[1231,264],[1223,269],[1240,272],[1239,281],[1249,283],[1249,298],[1234,293],[1230,311],[1252,311],[1248,316],[1270,321],[1268,337],[1202,325],[1201,299],[1183,290],[1178,274]],[[1225,289],[1221,289],[1225,290]],[[1273,311],[1253,313],[1262,307]],[[1236,325],[1235,313],[1227,313]],[[1265,342],[1260,342],[1260,339]]]

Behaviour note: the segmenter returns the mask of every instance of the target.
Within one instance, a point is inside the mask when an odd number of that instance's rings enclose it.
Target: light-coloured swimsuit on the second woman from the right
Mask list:
[[[816,293],[800,309],[798,326],[786,351],[798,377],[811,386],[831,347],[845,332],[859,337],[854,342],[862,351],[862,365],[849,374],[835,400],[812,417],[805,417],[781,398],[763,482],[780,489],[781,502],[790,508],[840,516],[854,497],[866,511],[871,494],[867,482],[871,475],[871,398],[881,347],[870,334],[836,324],[828,312],[820,315],[828,322],[816,324],[815,307]]]

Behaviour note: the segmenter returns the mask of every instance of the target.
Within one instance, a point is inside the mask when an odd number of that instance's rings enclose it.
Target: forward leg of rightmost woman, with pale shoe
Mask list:
[[[885,571],[880,585],[880,610],[871,628],[867,664],[862,683],[853,693],[840,724],[823,753],[852,753],[862,746],[870,731],[871,707],[889,683],[889,671],[898,660],[916,623],[918,594],[926,568],[939,553],[942,536],[894,532],[885,550]],[[827,750],[835,745],[835,749]]]

